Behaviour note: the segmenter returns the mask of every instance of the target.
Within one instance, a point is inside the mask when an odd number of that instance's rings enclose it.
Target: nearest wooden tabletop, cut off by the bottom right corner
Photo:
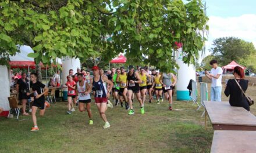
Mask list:
[[[214,132],[211,153],[255,152],[255,141],[255,131],[218,130]]]

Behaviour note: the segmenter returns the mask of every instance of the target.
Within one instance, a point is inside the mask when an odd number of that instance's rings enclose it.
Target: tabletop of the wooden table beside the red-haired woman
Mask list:
[[[256,126],[256,117],[243,107],[230,106],[229,102],[204,101],[212,124]]]

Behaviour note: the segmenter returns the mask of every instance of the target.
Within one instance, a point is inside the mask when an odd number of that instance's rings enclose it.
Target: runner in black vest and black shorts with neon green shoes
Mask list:
[[[129,115],[134,114],[133,101],[131,100],[133,93],[136,94],[137,100],[140,103],[141,114],[144,114],[145,111],[144,111],[143,102],[141,100],[140,86],[139,86],[139,83],[142,83],[142,81],[140,79],[140,75],[138,74],[137,71],[136,72],[134,71],[133,65],[129,65],[128,69],[129,69],[129,72],[127,74],[127,84],[128,84],[127,96],[128,96],[129,105],[130,105],[130,111],[128,112],[128,114]]]

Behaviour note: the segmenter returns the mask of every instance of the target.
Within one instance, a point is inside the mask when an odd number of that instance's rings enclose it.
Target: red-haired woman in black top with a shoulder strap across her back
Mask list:
[[[244,70],[241,67],[234,68],[234,79],[230,79],[227,81],[225,94],[229,97],[229,104],[232,106],[243,107],[247,111],[250,111],[250,105],[247,102],[246,96],[244,96],[243,92],[240,90],[241,88],[246,92],[248,88],[248,80],[244,79]],[[237,85],[237,82],[239,85]]]

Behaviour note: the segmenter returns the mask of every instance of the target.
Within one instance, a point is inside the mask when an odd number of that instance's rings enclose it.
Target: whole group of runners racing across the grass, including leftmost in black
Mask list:
[[[84,74],[77,68],[77,73],[73,75],[73,70],[69,70],[67,76],[67,82],[64,87],[67,88],[67,114],[72,114],[74,111],[73,103],[79,107],[79,111],[87,111],[89,117],[89,125],[93,125],[93,116],[91,113],[91,95],[93,93],[95,104],[97,105],[98,112],[105,122],[102,128],[109,128],[109,124],[105,112],[108,107],[113,107],[109,100],[112,93],[115,105],[119,103],[123,107],[125,103],[126,110],[129,110],[128,114],[135,113],[133,108],[134,94],[137,101],[140,103],[141,114],[145,113],[144,103],[146,101],[147,94],[149,95],[149,103],[152,103],[153,96],[155,94],[157,103],[163,101],[163,95],[166,100],[169,101],[169,110],[172,110],[172,89],[176,84],[176,77],[171,73],[160,73],[157,70],[148,70],[148,67],[138,67],[134,70],[133,65],[129,65],[126,72],[125,67],[112,68],[108,75],[104,74],[103,70],[94,66],[92,68],[93,78],[90,74]],[[41,82],[37,81],[37,75],[30,74],[32,83],[32,93],[34,94],[34,102],[32,106],[32,117],[34,127],[31,131],[39,130],[37,126],[35,112],[37,108],[40,108],[40,115],[44,115],[45,107],[48,103],[44,102],[44,93],[48,92],[48,88]],[[162,95],[163,94],[163,95]]]

